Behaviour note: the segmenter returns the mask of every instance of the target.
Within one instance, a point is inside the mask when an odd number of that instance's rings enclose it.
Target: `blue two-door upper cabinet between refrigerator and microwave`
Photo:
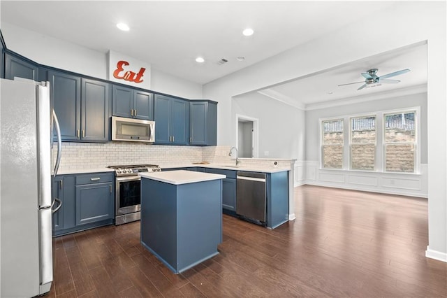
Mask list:
[[[62,141],[109,141],[109,83],[52,70],[47,71],[47,80]]]

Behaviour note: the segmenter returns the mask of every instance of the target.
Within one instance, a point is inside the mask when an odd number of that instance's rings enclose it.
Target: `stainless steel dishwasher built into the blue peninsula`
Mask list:
[[[236,214],[258,225],[266,225],[265,173],[238,171]]]

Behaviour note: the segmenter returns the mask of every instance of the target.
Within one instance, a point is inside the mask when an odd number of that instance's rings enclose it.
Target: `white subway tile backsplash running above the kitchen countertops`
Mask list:
[[[56,156],[53,148],[53,157]],[[62,143],[60,169],[77,170],[101,168],[117,164],[159,164],[171,166],[210,162],[212,164],[233,164],[228,155],[230,146],[193,147],[161,146],[145,143]],[[290,167],[290,159],[240,159],[241,165]]]

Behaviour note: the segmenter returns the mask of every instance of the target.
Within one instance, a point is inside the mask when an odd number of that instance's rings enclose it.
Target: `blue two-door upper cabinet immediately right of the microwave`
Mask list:
[[[155,143],[188,145],[189,101],[156,94],[154,120]]]

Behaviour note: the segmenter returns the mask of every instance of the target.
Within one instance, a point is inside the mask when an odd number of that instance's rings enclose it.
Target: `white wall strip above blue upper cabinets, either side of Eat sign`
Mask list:
[[[107,52],[90,50],[74,43],[5,22],[1,23],[1,33],[9,50],[13,50],[38,64],[73,71],[94,78],[107,79]],[[150,61],[147,62],[151,63]],[[171,76],[153,67],[151,90],[187,99],[203,99],[202,85]]]

